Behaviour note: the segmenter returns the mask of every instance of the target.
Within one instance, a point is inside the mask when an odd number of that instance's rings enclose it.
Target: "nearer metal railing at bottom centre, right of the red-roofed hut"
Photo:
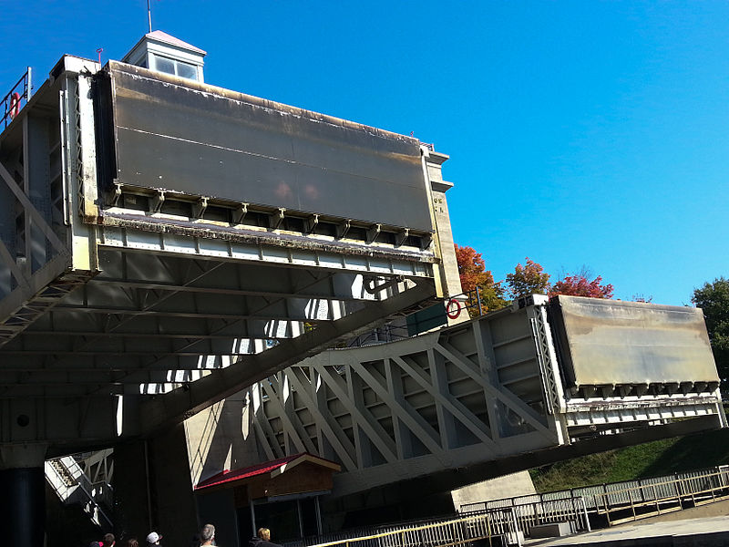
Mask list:
[[[286,547],[448,547],[479,540],[488,542],[488,545],[520,545],[520,539],[529,537],[532,527],[551,522],[569,522],[571,532],[590,531],[584,504],[575,498],[526,502],[506,508],[473,511],[456,518],[451,515],[336,532],[286,543]]]

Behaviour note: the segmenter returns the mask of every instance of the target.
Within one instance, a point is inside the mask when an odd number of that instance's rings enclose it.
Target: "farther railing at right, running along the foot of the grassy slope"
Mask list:
[[[636,521],[669,511],[681,511],[729,498],[729,466],[695,470],[649,479],[626,480],[598,486],[531,494],[503,500],[461,505],[459,512],[506,508],[523,503],[582,498],[586,511],[603,515],[608,525]]]

